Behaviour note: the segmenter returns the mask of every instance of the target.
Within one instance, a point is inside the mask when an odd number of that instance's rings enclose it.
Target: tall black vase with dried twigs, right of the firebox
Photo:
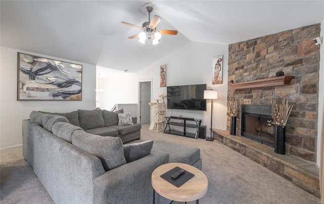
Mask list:
[[[285,154],[286,143],[286,124],[294,105],[288,104],[288,99],[272,99],[271,101],[271,117],[268,125],[274,124],[274,152],[277,154]]]

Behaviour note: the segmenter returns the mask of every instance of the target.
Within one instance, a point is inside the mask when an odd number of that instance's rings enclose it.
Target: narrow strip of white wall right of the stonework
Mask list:
[[[322,41],[324,36],[324,20],[320,23],[320,38]],[[316,163],[319,166],[320,164],[320,144],[321,133],[323,127],[323,113],[324,113],[324,43],[320,44],[319,50],[319,84],[318,84],[318,119],[317,119],[317,154],[316,154]]]

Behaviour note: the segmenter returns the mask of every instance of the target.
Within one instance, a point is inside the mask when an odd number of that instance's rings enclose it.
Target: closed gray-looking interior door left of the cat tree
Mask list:
[[[140,100],[140,123],[148,123],[151,120],[151,82],[141,82],[141,100]]]

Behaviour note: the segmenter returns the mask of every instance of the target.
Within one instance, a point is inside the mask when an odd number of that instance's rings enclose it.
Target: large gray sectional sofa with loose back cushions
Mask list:
[[[157,166],[181,162],[201,169],[197,148],[167,141],[123,144],[123,135],[139,130],[122,134],[118,129],[117,137],[103,137],[90,133],[102,128],[87,126],[87,132],[82,120],[77,126],[70,116],[33,111],[22,125],[23,156],[56,203],[152,203],[151,174]],[[155,199],[170,203],[159,195]]]

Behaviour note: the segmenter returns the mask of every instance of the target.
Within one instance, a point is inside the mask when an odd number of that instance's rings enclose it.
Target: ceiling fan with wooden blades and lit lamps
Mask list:
[[[140,40],[139,42],[145,44],[158,44],[160,41],[159,39],[161,38],[161,34],[165,34],[165,35],[177,35],[178,31],[177,30],[164,30],[164,29],[156,29],[156,25],[160,22],[161,17],[154,15],[152,21],[150,21],[150,13],[153,11],[153,8],[148,6],[146,7],[146,11],[148,12],[148,21],[144,22],[142,27],[137,26],[137,25],[133,25],[131,23],[127,23],[127,22],[121,22],[124,23],[126,25],[130,25],[132,27],[136,27],[136,28],[140,28],[143,31],[128,37],[129,39],[133,39],[136,37],[139,37]]]

